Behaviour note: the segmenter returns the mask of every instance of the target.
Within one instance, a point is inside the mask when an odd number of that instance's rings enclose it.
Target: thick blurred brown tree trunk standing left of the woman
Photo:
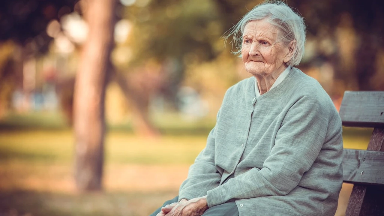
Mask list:
[[[86,0],[84,43],[74,88],[75,180],[80,191],[102,189],[104,98],[113,48],[116,0]]]

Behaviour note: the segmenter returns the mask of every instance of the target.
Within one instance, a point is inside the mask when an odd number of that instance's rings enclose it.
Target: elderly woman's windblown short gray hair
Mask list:
[[[296,66],[304,56],[305,45],[305,24],[303,17],[295,13],[286,3],[281,1],[265,1],[250,10],[235,26],[228,30],[224,37],[227,40],[233,35],[232,43],[235,44],[237,51],[235,55],[241,57],[242,37],[245,25],[252,20],[262,20],[267,18],[268,22],[275,25],[282,34],[280,37],[283,45],[288,46],[296,40],[295,51],[290,61],[286,64]]]

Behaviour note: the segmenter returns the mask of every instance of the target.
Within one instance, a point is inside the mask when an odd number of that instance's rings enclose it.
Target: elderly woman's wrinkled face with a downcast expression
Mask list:
[[[291,55],[288,47],[278,40],[279,33],[266,19],[252,20],[245,25],[241,50],[245,70],[262,76],[283,71],[284,62],[288,62]]]

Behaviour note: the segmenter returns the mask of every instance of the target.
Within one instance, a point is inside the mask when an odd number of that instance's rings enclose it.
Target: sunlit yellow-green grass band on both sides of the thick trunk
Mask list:
[[[106,136],[107,164],[190,164],[204,148],[205,136],[142,138],[111,131]],[[69,163],[74,139],[70,130],[0,132],[0,161]]]

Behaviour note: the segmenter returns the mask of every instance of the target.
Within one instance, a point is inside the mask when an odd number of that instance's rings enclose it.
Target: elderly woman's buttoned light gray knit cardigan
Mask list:
[[[292,67],[255,98],[255,78],[228,89],[179,199],[235,200],[240,216],[333,216],[343,182],[342,126],[320,84]]]

